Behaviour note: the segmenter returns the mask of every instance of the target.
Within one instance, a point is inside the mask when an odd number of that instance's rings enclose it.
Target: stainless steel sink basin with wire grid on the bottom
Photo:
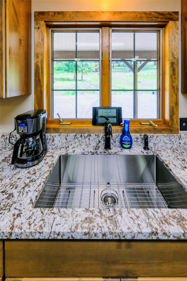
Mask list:
[[[187,208],[155,155],[61,155],[34,208]]]

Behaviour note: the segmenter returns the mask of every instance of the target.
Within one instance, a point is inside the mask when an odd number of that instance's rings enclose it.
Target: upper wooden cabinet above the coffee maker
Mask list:
[[[0,0],[0,97],[31,94],[31,1]]]

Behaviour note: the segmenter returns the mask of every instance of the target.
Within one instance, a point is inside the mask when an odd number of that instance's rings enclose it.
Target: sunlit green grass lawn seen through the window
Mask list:
[[[140,64],[138,64],[138,67]],[[63,90],[63,95],[75,95],[76,80],[74,72],[60,71],[54,69],[54,90]],[[154,62],[146,64],[138,72],[138,90],[157,89],[157,66]],[[99,90],[99,73],[93,70],[77,73],[77,90]],[[132,71],[126,65],[118,62],[112,67],[112,90],[133,90],[134,77]],[[64,90],[67,90],[64,92]],[[62,95],[62,92],[55,91],[54,95]]]

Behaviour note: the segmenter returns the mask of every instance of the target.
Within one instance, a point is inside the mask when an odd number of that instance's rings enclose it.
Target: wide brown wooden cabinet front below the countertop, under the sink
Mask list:
[[[78,280],[83,277],[101,280],[103,276],[121,277],[121,280],[125,280],[125,277],[134,277],[133,280],[136,280],[138,276],[143,276],[144,278],[139,280],[146,281],[154,279],[145,277],[178,276],[183,277],[182,281],[186,281],[184,277],[187,277],[187,242],[185,240],[6,240],[5,276],[71,277],[69,280],[77,280],[77,276]]]

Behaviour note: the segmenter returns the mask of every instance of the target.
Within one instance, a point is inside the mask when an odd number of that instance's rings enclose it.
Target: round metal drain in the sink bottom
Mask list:
[[[115,190],[107,188],[101,192],[101,202],[106,208],[115,208],[118,203],[118,194]]]

